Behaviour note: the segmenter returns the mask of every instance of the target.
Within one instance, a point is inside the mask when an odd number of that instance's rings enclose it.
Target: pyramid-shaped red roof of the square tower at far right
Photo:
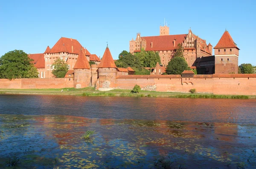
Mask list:
[[[218,41],[215,48],[237,48],[236,43],[233,41],[232,37],[230,36],[228,31],[225,31],[222,35],[221,39]]]

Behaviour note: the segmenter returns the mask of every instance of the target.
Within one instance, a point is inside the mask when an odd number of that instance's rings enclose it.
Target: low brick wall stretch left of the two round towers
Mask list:
[[[54,79],[0,79],[0,88],[6,89],[51,89],[74,87],[73,79],[54,78]]]

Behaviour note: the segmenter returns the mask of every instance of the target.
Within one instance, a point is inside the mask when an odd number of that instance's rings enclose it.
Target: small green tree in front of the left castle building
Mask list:
[[[64,62],[64,60],[58,58],[53,62],[52,66],[54,66],[54,69],[52,70],[53,75],[55,75],[57,78],[65,77],[68,71],[68,65]]]

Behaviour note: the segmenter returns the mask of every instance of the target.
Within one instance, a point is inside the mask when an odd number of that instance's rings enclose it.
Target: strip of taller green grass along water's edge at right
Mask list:
[[[189,95],[171,95],[170,98],[191,98],[191,99],[249,99],[249,96],[245,95],[201,95],[201,94],[189,94]]]

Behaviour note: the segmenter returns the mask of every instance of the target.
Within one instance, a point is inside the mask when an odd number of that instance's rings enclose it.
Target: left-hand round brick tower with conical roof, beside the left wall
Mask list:
[[[83,47],[79,52],[78,58],[76,60],[76,65],[74,66],[74,87],[76,89],[91,86],[91,69],[90,64],[85,56]]]

